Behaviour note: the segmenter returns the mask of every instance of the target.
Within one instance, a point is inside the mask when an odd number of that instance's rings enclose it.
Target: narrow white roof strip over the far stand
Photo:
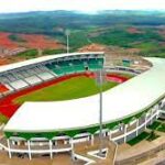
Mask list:
[[[88,54],[88,52],[86,52],[86,53],[68,53],[68,54],[65,53],[65,54],[57,54],[57,55],[37,57],[37,58],[29,59],[29,61],[25,61],[25,62],[19,62],[19,63],[14,63],[14,64],[0,66],[0,73],[12,70],[12,69],[24,67],[24,66],[29,66],[29,65],[40,64],[40,63],[51,61],[51,59],[55,59],[55,58],[59,58],[59,57],[69,57],[69,56],[87,55],[87,54]],[[89,54],[103,54],[103,52],[89,52]]]

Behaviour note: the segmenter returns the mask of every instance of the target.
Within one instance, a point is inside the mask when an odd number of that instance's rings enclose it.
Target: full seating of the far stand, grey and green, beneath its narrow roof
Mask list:
[[[22,66],[0,74],[0,97],[67,74],[102,68],[103,57],[97,55],[55,58],[36,65]]]

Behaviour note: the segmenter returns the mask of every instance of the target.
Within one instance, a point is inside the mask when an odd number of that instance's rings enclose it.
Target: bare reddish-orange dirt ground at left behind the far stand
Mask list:
[[[1,53],[1,48],[12,53],[18,48],[36,48],[36,50],[59,50],[65,48],[57,40],[40,34],[15,34],[25,42],[13,42],[9,35],[13,33],[0,32],[0,66],[15,62],[24,61],[23,57],[10,56],[8,53]]]

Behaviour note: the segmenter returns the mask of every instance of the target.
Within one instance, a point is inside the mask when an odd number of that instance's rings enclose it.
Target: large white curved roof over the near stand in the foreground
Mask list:
[[[103,122],[147,108],[165,95],[165,59],[147,58],[153,67],[103,92]],[[10,119],[4,131],[52,131],[99,123],[99,95],[87,98],[26,102]]]

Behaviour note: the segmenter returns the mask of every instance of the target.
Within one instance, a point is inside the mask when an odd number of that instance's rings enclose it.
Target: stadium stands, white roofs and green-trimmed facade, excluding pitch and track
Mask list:
[[[105,53],[73,53],[40,57],[0,67],[1,98],[68,74],[96,72],[131,73],[135,77],[103,92],[103,136],[118,144],[141,134],[147,125],[165,116],[165,59],[146,58],[145,72],[131,66],[108,66]],[[135,64],[136,62],[131,62]],[[89,141],[99,133],[99,96],[66,101],[25,102],[3,129],[0,146],[14,153],[70,152],[74,144]]]

